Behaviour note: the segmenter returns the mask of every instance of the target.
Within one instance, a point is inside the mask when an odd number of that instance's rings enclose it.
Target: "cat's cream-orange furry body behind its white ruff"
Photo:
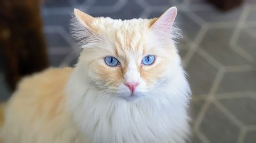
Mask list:
[[[48,69],[20,82],[6,106],[4,142],[82,142],[65,111],[64,91],[71,72],[71,68]]]

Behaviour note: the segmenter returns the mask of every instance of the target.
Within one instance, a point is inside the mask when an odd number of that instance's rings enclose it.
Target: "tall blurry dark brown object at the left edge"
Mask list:
[[[0,1],[0,51],[11,90],[22,76],[48,67],[39,3]]]

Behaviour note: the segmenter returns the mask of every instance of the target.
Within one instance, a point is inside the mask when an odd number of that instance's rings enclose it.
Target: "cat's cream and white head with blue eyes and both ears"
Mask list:
[[[177,75],[176,7],[159,18],[123,21],[92,17],[76,9],[74,13],[72,33],[83,49],[77,67],[91,87],[133,101],[157,94]]]

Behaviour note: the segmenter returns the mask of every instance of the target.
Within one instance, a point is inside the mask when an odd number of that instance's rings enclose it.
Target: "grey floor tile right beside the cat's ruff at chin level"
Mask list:
[[[188,82],[193,95],[208,94],[218,69],[209,64],[201,55],[195,53],[185,70],[188,73]]]

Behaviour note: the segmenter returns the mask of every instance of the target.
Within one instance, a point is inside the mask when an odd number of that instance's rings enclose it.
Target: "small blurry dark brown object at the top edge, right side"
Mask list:
[[[208,0],[222,11],[228,11],[240,6],[243,0]]]

